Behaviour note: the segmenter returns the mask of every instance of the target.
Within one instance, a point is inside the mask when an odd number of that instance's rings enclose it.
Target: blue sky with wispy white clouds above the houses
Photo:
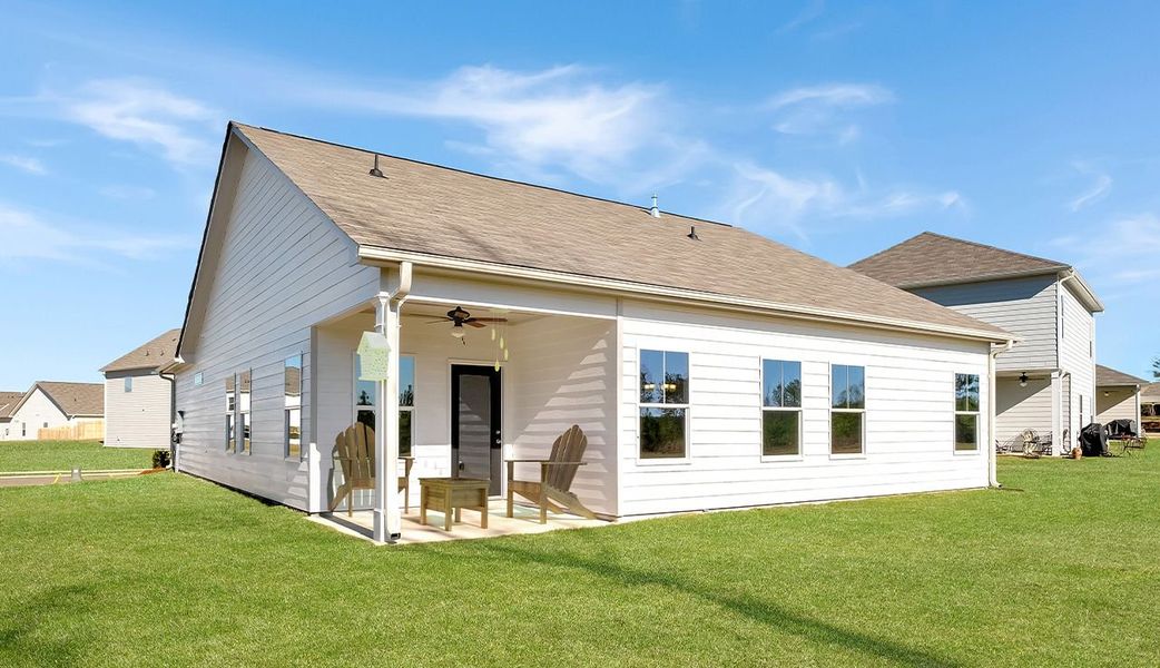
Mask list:
[[[1063,260],[1101,362],[1160,354],[1155,3],[95,5],[0,1],[0,390],[181,324],[230,118],[841,264],[923,230]]]

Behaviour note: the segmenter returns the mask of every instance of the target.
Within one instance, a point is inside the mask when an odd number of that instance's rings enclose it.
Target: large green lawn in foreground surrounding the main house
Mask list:
[[[0,665],[1160,662],[1160,443],[1000,475],[398,549],[169,473],[0,488]]]

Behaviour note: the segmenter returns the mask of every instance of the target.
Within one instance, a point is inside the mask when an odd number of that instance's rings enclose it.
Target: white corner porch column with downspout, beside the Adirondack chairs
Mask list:
[[[391,346],[385,383],[375,398],[375,542],[398,539],[399,514],[399,305],[379,295],[375,305],[375,329]]]

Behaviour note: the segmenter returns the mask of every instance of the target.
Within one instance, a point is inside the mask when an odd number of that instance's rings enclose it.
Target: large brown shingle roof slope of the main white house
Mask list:
[[[234,125],[355,242],[1006,340],[992,325],[739,227]],[[689,239],[696,227],[699,240]]]

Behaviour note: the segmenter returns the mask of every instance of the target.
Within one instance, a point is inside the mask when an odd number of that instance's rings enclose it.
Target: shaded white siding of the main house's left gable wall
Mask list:
[[[225,206],[229,203],[218,203]],[[260,154],[247,152],[196,342],[177,377],[184,412],[181,470],[307,509],[307,464],[284,456],[284,361],[304,355],[303,448],[313,434],[311,327],[368,303],[378,269],[353,262],[354,242]],[[226,451],[225,379],[253,372],[252,455]],[[194,385],[201,373],[203,385]]]

